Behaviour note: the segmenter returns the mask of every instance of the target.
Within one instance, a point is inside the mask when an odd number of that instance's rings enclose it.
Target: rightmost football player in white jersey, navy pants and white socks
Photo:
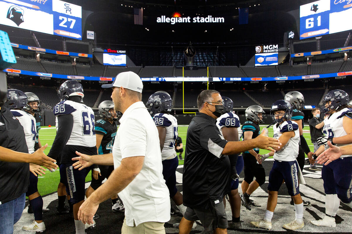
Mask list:
[[[328,113],[324,119],[323,136],[317,139],[320,155],[328,149],[327,141],[333,145],[344,146],[352,143],[352,106],[348,105],[349,96],[345,91],[336,89],[328,92],[321,107],[322,113]],[[340,206],[340,200],[352,208],[352,155],[342,155],[341,158],[323,165],[321,177],[325,190],[325,216],[322,220],[310,221],[316,226],[336,227],[335,215]]]

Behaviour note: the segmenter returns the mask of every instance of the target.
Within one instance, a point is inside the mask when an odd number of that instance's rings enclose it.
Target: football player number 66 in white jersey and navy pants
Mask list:
[[[75,157],[76,151],[96,154],[94,112],[82,103],[83,88],[75,80],[62,83],[58,96],[61,101],[54,107],[58,128],[48,155],[55,159],[60,155],[60,177],[73,206],[76,234],[84,234],[84,223],[78,220],[78,209],[84,202],[85,179],[91,168],[81,171],[74,169],[71,159]]]

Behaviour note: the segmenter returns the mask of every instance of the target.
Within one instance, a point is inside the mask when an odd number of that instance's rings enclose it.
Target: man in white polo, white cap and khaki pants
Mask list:
[[[111,85],[114,109],[123,113],[112,154],[81,157],[76,168],[114,165],[115,170],[81,205],[78,218],[93,223],[99,203],[118,193],[125,205],[122,234],[165,233],[170,220],[169,190],[162,171],[158,130],[142,100],[143,84],[133,72],[118,74]],[[97,223],[99,226],[99,222]]]

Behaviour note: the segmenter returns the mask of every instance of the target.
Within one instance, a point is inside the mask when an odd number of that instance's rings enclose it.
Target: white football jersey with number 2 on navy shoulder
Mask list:
[[[286,145],[281,148],[279,151],[274,153],[274,159],[278,161],[295,161],[298,156],[298,147],[300,143],[300,131],[298,130],[298,124],[294,121],[287,120],[284,121],[281,125],[274,125],[274,136],[273,138],[279,139],[282,133],[294,131],[295,136],[291,137]]]

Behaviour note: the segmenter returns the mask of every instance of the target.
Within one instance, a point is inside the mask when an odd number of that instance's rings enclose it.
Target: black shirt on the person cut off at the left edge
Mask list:
[[[23,127],[9,109],[0,111],[0,146],[28,153]],[[0,161],[0,202],[11,201],[27,192],[29,163]]]

